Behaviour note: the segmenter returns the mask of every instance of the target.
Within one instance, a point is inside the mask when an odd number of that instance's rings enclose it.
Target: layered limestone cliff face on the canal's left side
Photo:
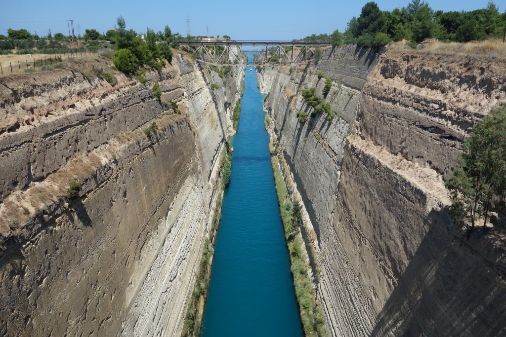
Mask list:
[[[0,81],[0,333],[180,333],[243,74],[212,93],[215,74],[186,58],[146,85],[65,70]]]

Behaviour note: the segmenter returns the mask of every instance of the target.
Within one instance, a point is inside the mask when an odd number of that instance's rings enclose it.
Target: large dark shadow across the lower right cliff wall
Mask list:
[[[429,214],[431,229],[402,275],[395,275],[398,284],[370,336],[506,335],[503,266],[480,254],[486,251],[481,230],[469,241],[454,238],[449,223],[446,210]]]

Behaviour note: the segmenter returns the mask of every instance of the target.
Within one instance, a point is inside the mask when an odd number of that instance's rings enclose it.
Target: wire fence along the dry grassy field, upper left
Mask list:
[[[37,70],[50,70],[57,68],[62,62],[93,58],[106,53],[113,53],[113,50],[106,47],[97,48],[68,48],[54,50],[51,54],[27,54],[26,59],[0,62],[0,74],[21,74],[23,72],[34,72]]]

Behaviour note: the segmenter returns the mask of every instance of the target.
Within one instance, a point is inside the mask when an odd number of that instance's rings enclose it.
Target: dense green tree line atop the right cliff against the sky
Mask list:
[[[505,24],[506,11],[500,13],[492,1],[486,8],[469,12],[434,11],[420,0],[412,0],[403,8],[382,11],[375,2],[368,2],[358,18],[350,19],[344,32],[336,29],[331,34],[313,34],[302,40],[330,40],[333,46],[357,43],[375,49],[403,39],[412,45],[430,38],[468,42],[501,38]]]

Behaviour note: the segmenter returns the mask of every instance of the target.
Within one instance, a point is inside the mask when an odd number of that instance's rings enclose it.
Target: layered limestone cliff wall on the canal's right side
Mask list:
[[[461,49],[347,45],[259,73],[329,335],[506,333],[504,240],[457,229],[443,181],[470,127],[506,102],[506,60]],[[300,123],[302,89],[322,95],[326,78],[338,117]]]

